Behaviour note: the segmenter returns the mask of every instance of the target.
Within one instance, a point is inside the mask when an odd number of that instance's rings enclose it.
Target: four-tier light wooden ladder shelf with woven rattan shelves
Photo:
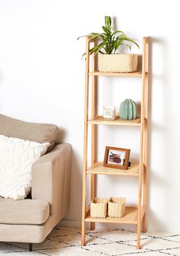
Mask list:
[[[84,134],[83,134],[83,205],[82,205],[82,235],[81,245],[85,245],[86,222],[90,222],[90,229],[95,228],[95,222],[103,223],[124,223],[137,225],[137,248],[141,248],[141,231],[146,232],[146,172],[147,172],[147,125],[148,125],[148,91],[149,91],[149,38],[142,39],[142,71],[134,73],[103,73],[96,71],[95,56],[92,55],[90,71],[90,41],[86,38],[86,78],[85,78],[85,104],[84,104]],[[116,117],[113,121],[104,121],[102,117],[97,116],[97,76],[108,77],[141,77],[142,95],[141,95],[141,117],[136,120],[123,121]],[[91,118],[88,117],[88,104],[90,93],[91,77]],[[91,125],[91,166],[87,167],[87,143],[88,143],[88,125]],[[128,168],[112,169],[103,167],[103,162],[97,162],[97,125],[115,125],[115,126],[139,126],[140,127],[140,153],[139,162],[134,162]],[[126,207],[123,218],[91,218],[90,205],[87,205],[87,175],[90,175],[90,199],[95,197],[95,177],[97,175],[113,176],[136,176],[139,179],[139,196],[137,207]],[[142,228],[142,230],[141,230]]]

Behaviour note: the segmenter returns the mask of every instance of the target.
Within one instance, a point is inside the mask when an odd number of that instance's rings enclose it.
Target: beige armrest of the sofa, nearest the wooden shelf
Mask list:
[[[71,146],[57,144],[32,166],[32,199],[50,204],[50,214],[57,224],[67,213],[70,198]]]

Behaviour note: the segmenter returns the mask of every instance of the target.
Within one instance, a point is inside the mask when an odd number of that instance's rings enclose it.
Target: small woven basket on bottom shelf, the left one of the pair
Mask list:
[[[90,202],[90,216],[93,218],[106,218],[108,199],[92,199]]]

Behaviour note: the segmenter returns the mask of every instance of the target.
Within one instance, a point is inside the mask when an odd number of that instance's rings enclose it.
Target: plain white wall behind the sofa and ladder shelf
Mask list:
[[[81,215],[85,41],[104,15],[141,44],[150,36],[152,83],[149,109],[149,230],[180,231],[178,1],[0,0],[0,112],[34,122],[56,123],[60,140],[73,146],[70,210]],[[142,50],[142,48],[141,48]],[[136,51],[136,48],[133,48]],[[126,97],[139,100],[139,78],[100,80],[100,106]],[[100,128],[100,158],[106,145],[129,147],[138,157],[138,129]],[[136,139],[134,139],[136,138]],[[101,179],[101,181],[100,181]],[[124,195],[136,202],[136,179],[98,179],[98,195]],[[106,189],[108,188],[108,189]],[[66,222],[67,224],[67,222]]]

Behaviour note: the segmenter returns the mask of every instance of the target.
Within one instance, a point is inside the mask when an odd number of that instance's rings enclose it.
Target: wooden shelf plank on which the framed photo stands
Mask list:
[[[139,163],[131,162],[127,170],[104,167],[103,162],[96,162],[95,165],[87,170],[90,174],[117,175],[117,176],[139,176]]]

